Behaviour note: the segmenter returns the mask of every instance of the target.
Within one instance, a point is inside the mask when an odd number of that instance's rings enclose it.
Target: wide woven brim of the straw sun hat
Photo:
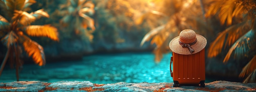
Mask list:
[[[169,43],[169,47],[172,52],[175,52],[177,54],[183,54],[183,55],[189,55],[189,54],[195,54],[200,52],[207,44],[206,38],[204,36],[201,36],[199,34],[196,34],[197,42],[194,45],[191,45],[191,47],[195,50],[193,53],[189,52],[189,49],[186,47],[182,47],[179,43],[179,36],[173,38],[171,42]]]

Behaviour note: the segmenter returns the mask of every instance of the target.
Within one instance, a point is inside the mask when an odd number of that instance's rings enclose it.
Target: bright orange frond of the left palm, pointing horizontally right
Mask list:
[[[50,25],[29,25],[26,27],[29,36],[45,36],[58,41],[58,31]]]

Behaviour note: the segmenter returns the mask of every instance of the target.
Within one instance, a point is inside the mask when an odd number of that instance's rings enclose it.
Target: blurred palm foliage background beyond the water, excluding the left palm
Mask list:
[[[159,63],[171,52],[169,42],[193,29],[207,38],[206,74],[255,83],[255,5],[255,0],[36,0],[28,12],[44,9],[49,18],[31,24],[58,29],[58,42],[31,37],[48,61],[152,51]],[[7,50],[0,47],[3,58]]]

